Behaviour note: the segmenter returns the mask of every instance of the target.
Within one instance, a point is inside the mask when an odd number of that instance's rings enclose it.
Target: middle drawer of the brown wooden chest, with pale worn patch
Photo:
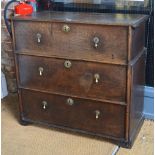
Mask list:
[[[126,66],[18,56],[20,86],[84,98],[126,100]]]

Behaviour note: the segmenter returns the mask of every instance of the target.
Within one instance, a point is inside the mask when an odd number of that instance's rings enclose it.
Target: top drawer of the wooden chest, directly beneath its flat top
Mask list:
[[[127,27],[15,21],[16,51],[126,63]]]

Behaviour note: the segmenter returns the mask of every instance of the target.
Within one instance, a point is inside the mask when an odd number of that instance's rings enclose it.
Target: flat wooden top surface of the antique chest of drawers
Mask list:
[[[15,16],[13,20],[71,22],[101,25],[135,26],[148,19],[148,15],[112,14],[112,13],[78,13],[78,12],[37,12],[29,16]]]

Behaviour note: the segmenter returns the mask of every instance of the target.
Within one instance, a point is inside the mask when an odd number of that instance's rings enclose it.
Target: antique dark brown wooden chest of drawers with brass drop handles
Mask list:
[[[71,12],[14,17],[21,124],[131,147],[143,122],[147,18]]]

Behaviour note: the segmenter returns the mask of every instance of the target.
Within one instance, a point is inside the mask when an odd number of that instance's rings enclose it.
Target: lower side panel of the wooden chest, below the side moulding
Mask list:
[[[144,54],[131,67],[131,105],[130,105],[130,139],[133,139],[139,124],[143,119],[144,85],[145,85],[145,61]]]

